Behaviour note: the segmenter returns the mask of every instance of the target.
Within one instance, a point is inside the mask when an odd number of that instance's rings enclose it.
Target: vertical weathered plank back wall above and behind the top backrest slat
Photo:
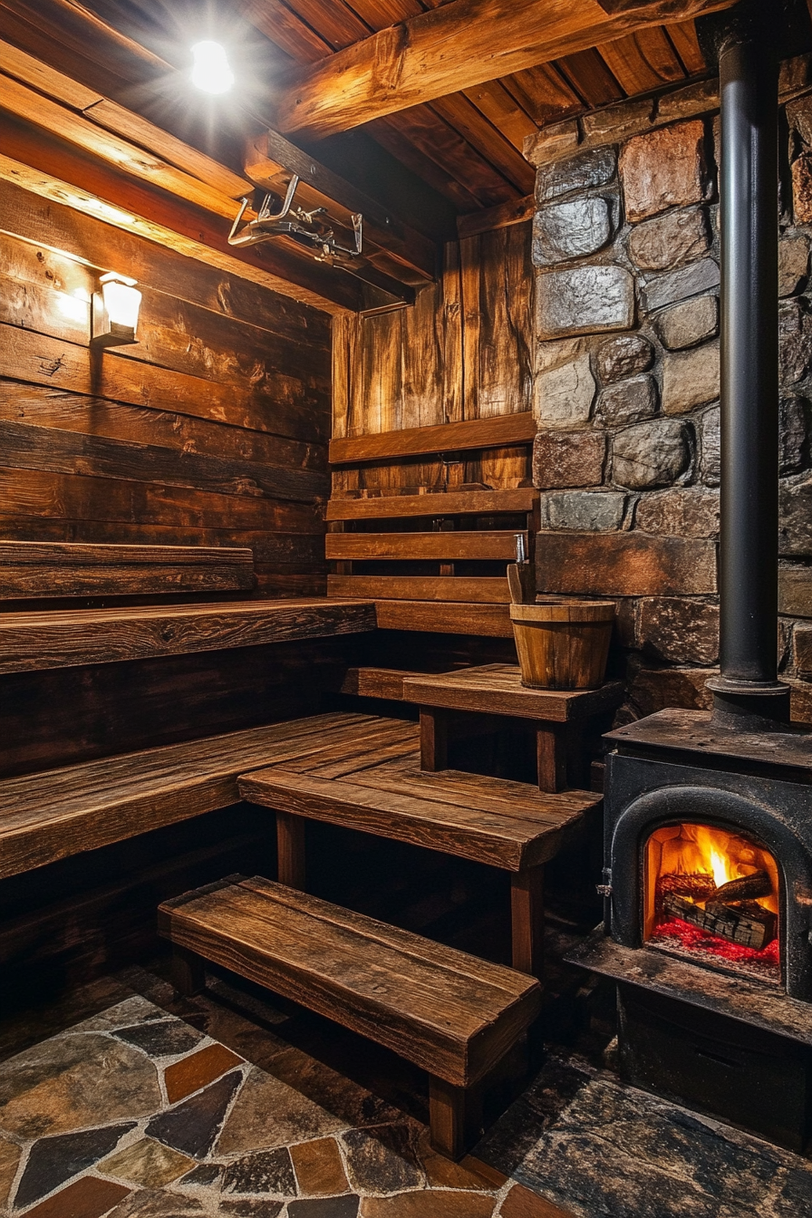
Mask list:
[[[336,319],[334,436],[493,418],[532,408],[531,224],[450,242],[442,280],[413,309]],[[450,463],[409,459],[332,475],[332,493],[519,486],[528,446]]]

